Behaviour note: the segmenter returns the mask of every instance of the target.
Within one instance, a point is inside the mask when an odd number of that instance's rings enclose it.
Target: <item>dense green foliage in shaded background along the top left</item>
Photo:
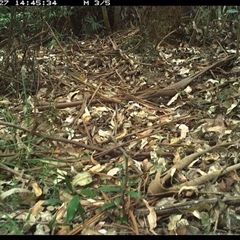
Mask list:
[[[0,9],[0,31],[2,39],[6,39],[9,34],[9,26],[11,19],[13,20],[13,35],[14,37],[24,39],[34,36],[46,29],[45,21],[51,25],[56,34],[64,34],[66,37],[73,28],[79,33],[84,32],[87,36],[92,36],[99,30],[104,29],[103,20],[98,16],[98,11],[92,11],[84,6],[56,6],[56,7],[43,7],[39,6],[18,6],[16,7],[16,14],[11,16],[11,7],[2,6]],[[84,13],[79,18],[79,14]],[[100,19],[100,20],[98,20]],[[76,24],[76,22],[81,23]],[[84,29],[84,30],[83,30]],[[54,45],[51,42],[50,45]]]

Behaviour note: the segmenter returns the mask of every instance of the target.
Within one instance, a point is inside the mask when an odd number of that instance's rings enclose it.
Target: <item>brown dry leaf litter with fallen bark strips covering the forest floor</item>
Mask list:
[[[143,58],[138,31],[41,47],[36,94],[1,99],[2,234],[239,233],[238,58]]]

